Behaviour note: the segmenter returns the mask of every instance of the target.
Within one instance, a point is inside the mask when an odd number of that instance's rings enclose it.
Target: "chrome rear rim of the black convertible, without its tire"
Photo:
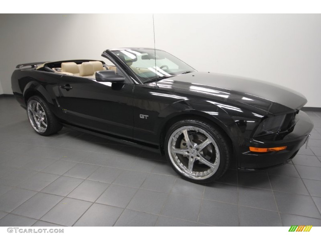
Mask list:
[[[30,100],[27,106],[27,114],[30,124],[36,132],[46,132],[47,116],[39,102],[36,100]]]

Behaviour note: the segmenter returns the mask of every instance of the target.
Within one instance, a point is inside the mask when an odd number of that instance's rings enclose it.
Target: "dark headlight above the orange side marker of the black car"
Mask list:
[[[273,134],[279,132],[286,115],[268,117],[257,127],[254,137]]]

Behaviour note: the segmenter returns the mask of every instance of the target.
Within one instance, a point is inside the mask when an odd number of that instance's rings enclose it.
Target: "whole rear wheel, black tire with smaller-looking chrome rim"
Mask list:
[[[54,134],[62,128],[46,101],[39,96],[28,99],[27,116],[32,128],[42,136]]]

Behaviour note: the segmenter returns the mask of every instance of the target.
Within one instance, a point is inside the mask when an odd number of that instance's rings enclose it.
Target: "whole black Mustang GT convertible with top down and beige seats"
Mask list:
[[[13,94],[40,135],[62,126],[165,154],[183,178],[211,182],[293,158],[313,124],[306,98],[279,85],[197,72],[149,48],[106,50],[97,60],[20,64]]]

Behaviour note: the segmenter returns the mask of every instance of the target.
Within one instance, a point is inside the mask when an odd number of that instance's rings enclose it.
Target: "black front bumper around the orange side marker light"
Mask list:
[[[313,123],[305,112],[300,111],[297,116],[297,123],[292,132],[289,132],[282,139],[264,140],[260,138],[246,138],[241,147],[239,169],[261,170],[284,164],[293,158],[307,140],[313,129]],[[274,148],[287,146],[285,150],[256,153],[250,152],[249,147]]]

